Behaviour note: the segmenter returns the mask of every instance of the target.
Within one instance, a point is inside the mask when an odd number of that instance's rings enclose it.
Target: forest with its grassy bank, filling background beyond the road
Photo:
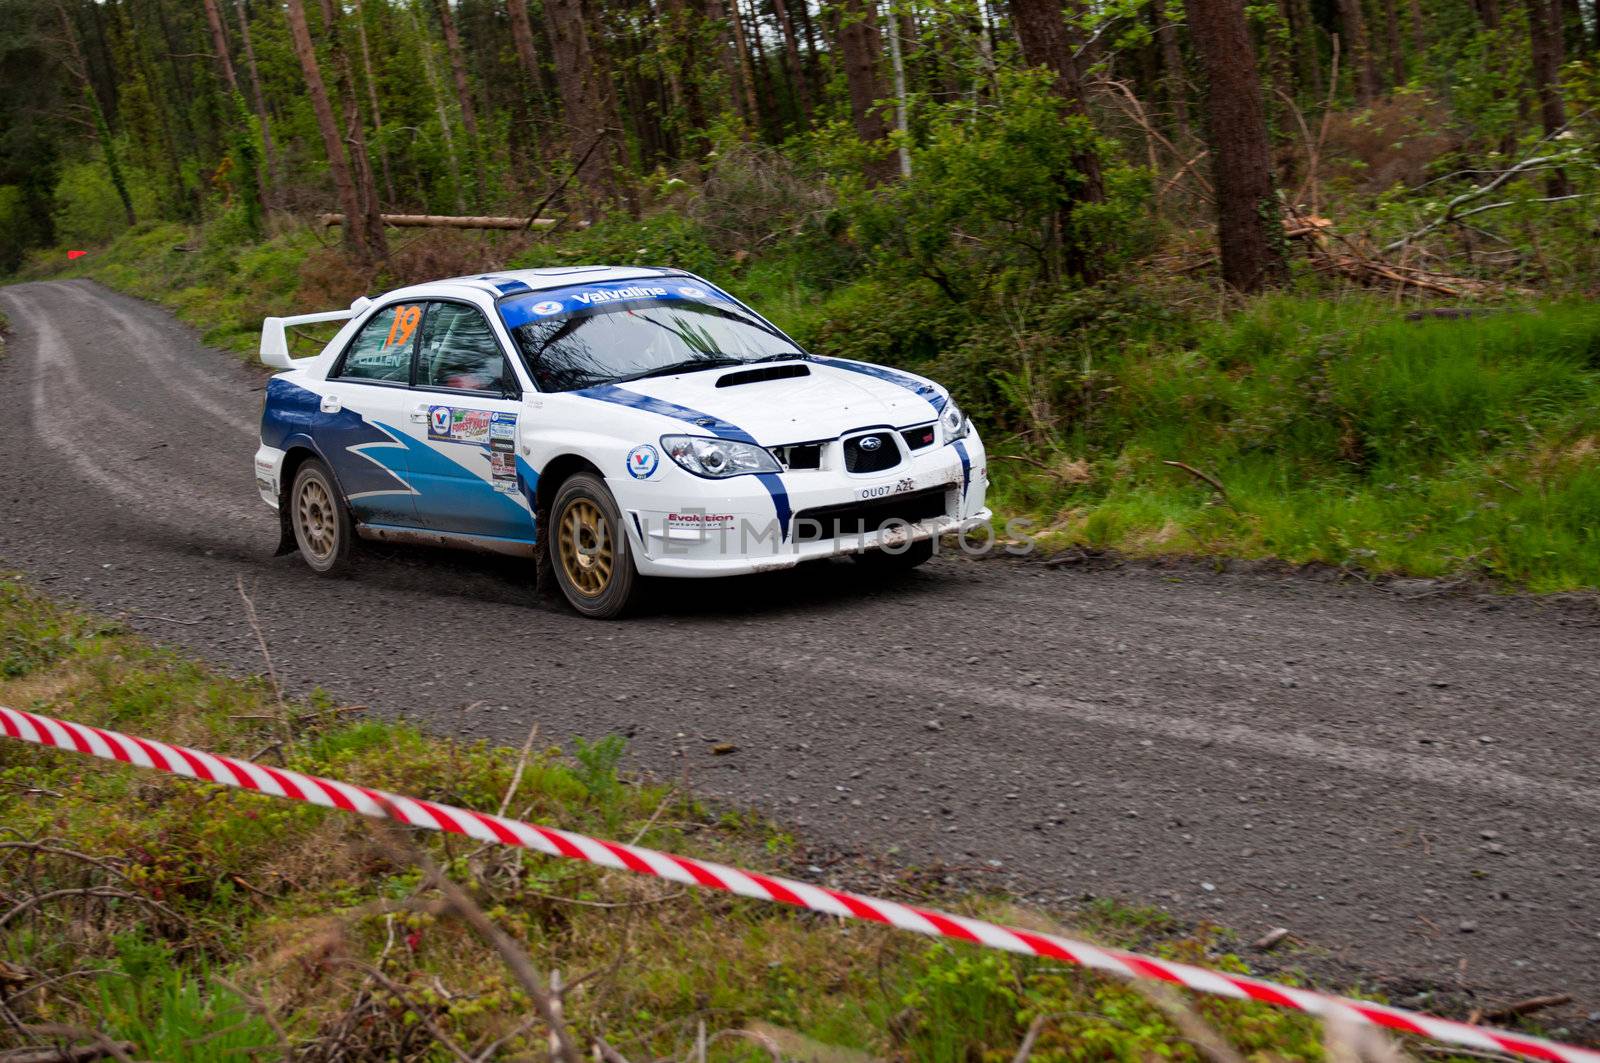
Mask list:
[[[947,381],[1058,546],[1600,586],[1597,56],[1600,0],[0,0],[0,275],[248,349],[682,266]]]

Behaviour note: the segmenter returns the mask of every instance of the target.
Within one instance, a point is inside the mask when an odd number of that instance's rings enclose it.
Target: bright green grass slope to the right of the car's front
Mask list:
[[[994,463],[997,501],[1048,544],[1600,588],[1594,304],[1410,322],[1267,299],[1189,346],[1112,355],[1101,379],[1093,418],[1045,453],[1054,471]]]

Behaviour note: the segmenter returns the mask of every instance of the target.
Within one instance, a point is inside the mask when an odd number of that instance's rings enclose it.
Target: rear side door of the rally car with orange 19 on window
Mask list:
[[[362,523],[419,525],[406,429],[416,407],[411,363],[424,309],[416,301],[394,303],[373,314],[320,389],[312,439]]]

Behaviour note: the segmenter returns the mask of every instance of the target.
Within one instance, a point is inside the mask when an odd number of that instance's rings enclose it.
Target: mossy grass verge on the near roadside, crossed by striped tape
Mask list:
[[[0,703],[472,808],[510,792],[512,815],[670,852],[768,869],[803,861],[755,818],[619,778],[619,740],[573,756],[538,749],[512,786],[518,751],[358,722],[325,698],[280,704],[264,680],[221,677],[14,578],[0,580]],[[0,738],[0,1001],[24,1025],[94,1031],[170,1063],[251,1049],[464,1058],[445,1037],[475,1058],[496,1039],[528,1058],[544,1044],[504,964],[438,913],[422,871],[365,820]],[[536,965],[581,983],[566,1018],[586,1053],[603,1034],[634,1060],[685,1057],[704,1023],[710,1036],[765,1031],[797,1058],[992,1060],[1011,1058],[1048,1015],[1035,1060],[1198,1058],[1139,991],[1077,969],[459,837],[416,844]],[[928,901],[917,880],[880,889]],[[1243,969],[1214,932],[1181,933],[1154,913],[1106,906],[1075,932]],[[1246,1055],[1320,1055],[1304,1018],[1190,1005]],[[0,1045],[18,1041],[0,1023]],[[838,1050],[810,1055],[813,1042]],[[768,1055],[723,1034],[710,1058]]]

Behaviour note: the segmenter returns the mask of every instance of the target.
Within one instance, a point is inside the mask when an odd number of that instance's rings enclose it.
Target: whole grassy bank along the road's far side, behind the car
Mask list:
[[[984,427],[992,503],[1030,517],[1048,548],[1600,589],[1594,303],[1408,320],[1390,298],[1317,290],[1219,315],[1134,275],[1011,315],[952,307],[931,285],[826,285],[806,256],[728,263],[693,223],[658,215],[550,242],[408,237],[378,277],[306,229],[242,245],[144,226],[69,272],[253,352],[264,314],[339,306],[368,285],[504,264],[683,264],[818,351],[949,384]]]

